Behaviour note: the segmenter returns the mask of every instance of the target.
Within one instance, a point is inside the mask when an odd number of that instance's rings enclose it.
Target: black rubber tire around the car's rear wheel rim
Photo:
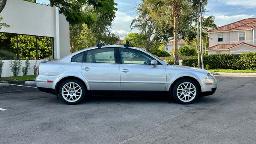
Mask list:
[[[72,83],[72,82],[78,84],[78,85],[81,87],[81,96],[80,96],[80,98],[78,98],[78,100],[75,101],[75,102],[69,102],[69,101],[65,100],[65,99],[64,99],[64,96],[62,95],[62,88],[64,87],[64,85],[67,84],[67,83]],[[63,82],[60,84],[59,88],[58,88],[58,92],[59,92],[59,97],[60,97],[60,99],[61,99],[63,102],[65,102],[66,104],[70,104],[70,105],[79,104],[80,102],[82,102],[82,101],[85,99],[85,96],[86,96],[86,88],[85,88],[85,85],[84,85],[81,81],[79,81],[79,80],[77,80],[77,79],[66,79],[65,81],[63,81]]]

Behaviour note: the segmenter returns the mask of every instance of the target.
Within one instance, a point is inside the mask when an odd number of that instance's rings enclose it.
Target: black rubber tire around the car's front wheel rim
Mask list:
[[[179,99],[179,97],[177,95],[177,89],[178,89],[179,85],[182,83],[186,83],[186,82],[193,84],[196,88],[195,97],[190,102],[183,102],[182,100]],[[179,104],[192,104],[198,98],[199,93],[200,93],[199,85],[192,79],[180,79],[173,85],[173,88],[172,88],[172,96],[175,99],[175,101],[178,102]]]

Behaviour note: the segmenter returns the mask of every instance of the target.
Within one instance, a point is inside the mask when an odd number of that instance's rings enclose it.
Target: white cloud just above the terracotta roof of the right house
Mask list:
[[[241,14],[241,15],[221,15],[219,13],[215,13],[213,14],[215,16],[215,23],[216,25],[219,26],[223,26],[223,25],[227,25],[229,23],[233,23],[235,21],[239,21],[242,19],[246,19],[246,18],[252,18],[254,17],[254,15],[246,15],[246,14]],[[208,17],[208,16],[206,16]]]

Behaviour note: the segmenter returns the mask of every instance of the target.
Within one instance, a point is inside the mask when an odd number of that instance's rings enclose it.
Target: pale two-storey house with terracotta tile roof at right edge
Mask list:
[[[256,18],[242,19],[207,31],[208,54],[256,52]]]

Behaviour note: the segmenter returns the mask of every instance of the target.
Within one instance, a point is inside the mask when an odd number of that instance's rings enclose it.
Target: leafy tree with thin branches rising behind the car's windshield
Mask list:
[[[152,53],[161,44],[168,41],[168,33],[171,30],[164,19],[153,19],[149,16],[148,11],[148,6],[145,3],[137,6],[136,12],[138,13],[138,17],[131,22],[131,29],[137,28],[141,33],[130,36],[136,37],[134,40],[139,45],[138,47],[144,48],[146,51]]]

